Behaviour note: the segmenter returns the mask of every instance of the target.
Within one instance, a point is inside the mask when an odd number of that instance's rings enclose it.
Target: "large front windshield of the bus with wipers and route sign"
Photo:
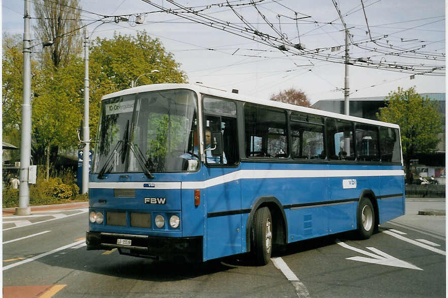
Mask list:
[[[189,90],[165,90],[104,100],[94,150],[93,173],[196,170],[197,97]]]

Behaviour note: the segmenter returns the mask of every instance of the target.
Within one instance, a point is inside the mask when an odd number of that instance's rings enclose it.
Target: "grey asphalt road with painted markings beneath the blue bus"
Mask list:
[[[263,267],[246,255],[185,265],[86,251],[85,207],[3,217],[4,297],[444,297],[444,199],[407,199],[369,240],[350,233],[287,246]]]

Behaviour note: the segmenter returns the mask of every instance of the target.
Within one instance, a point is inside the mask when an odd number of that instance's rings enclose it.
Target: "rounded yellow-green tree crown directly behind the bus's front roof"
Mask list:
[[[131,87],[132,80],[141,76],[137,85],[184,83],[185,73],[162,42],[145,31],[137,36],[114,34],[112,39],[94,40],[89,55],[90,73],[90,135],[97,131],[101,97]]]

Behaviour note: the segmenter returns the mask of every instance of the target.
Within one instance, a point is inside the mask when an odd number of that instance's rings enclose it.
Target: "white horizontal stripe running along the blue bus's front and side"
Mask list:
[[[265,178],[317,178],[317,177],[375,177],[404,176],[403,170],[238,170],[206,181],[154,182],[154,187],[144,187],[147,182],[90,182],[96,189],[204,189],[240,179]]]

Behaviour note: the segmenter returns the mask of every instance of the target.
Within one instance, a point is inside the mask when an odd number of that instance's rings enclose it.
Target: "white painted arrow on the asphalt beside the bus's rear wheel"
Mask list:
[[[340,242],[340,241],[336,241],[337,244],[339,244],[340,246],[362,253],[364,255],[370,256],[372,258],[366,258],[366,257],[350,257],[347,258],[347,260],[354,260],[354,261],[360,261],[360,262],[367,262],[367,263],[373,263],[373,264],[379,264],[379,265],[386,265],[386,266],[394,266],[394,267],[403,267],[403,268],[408,268],[408,269],[414,269],[414,270],[422,270],[421,268],[412,265],[411,263],[405,262],[403,260],[397,259],[396,257],[393,257],[391,255],[388,255],[385,252],[382,252],[374,247],[367,247],[367,249],[373,251],[374,253],[377,254],[373,254],[371,252],[356,248],[356,247],[352,247],[349,246],[346,243]]]

